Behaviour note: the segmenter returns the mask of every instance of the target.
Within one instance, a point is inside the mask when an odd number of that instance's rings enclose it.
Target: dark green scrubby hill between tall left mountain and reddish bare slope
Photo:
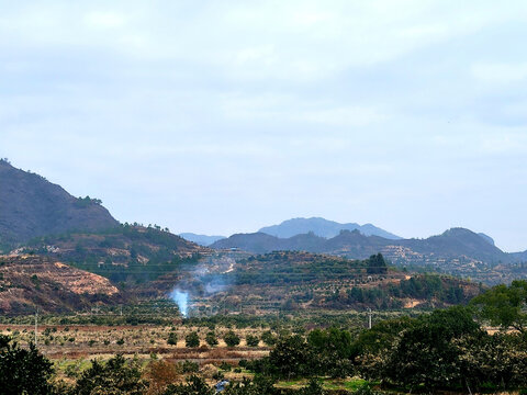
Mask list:
[[[197,262],[208,249],[156,227],[121,225],[101,233],[46,236],[19,248],[109,278],[114,283],[145,282]]]

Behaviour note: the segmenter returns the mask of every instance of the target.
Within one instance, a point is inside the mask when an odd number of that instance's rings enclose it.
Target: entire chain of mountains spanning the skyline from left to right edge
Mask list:
[[[228,238],[181,236],[184,239],[157,227],[121,225],[100,201],[74,198],[43,177],[0,160],[0,251],[19,248],[20,253],[61,258],[112,281],[150,281],[181,264],[192,266],[198,256],[211,253],[197,244],[248,253],[296,250],[352,259],[381,252],[399,266],[486,283],[527,276],[527,251],[506,253],[491,237],[463,228],[426,239],[403,239],[371,224],[314,217],[293,218]]]

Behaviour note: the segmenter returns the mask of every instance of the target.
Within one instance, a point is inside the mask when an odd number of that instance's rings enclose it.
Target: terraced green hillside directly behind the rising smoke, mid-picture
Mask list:
[[[200,275],[161,276],[156,283],[148,290],[177,286],[193,301],[193,314],[205,315],[437,307],[466,303],[481,291],[448,275],[388,268],[380,255],[349,260],[291,251],[245,257]]]

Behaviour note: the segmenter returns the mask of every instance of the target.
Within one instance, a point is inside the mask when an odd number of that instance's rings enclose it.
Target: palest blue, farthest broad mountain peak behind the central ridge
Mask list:
[[[341,230],[359,230],[365,236],[380,236],[391,240],[399,240],[402,238],[372,224],[340,224],[321,217],[292,218],[282,222],[280,225],[262,227],[258,232],[280,238],[289,238],[307,233],[313,233],[314,235],[324,238],[332,238],[337,236]]]

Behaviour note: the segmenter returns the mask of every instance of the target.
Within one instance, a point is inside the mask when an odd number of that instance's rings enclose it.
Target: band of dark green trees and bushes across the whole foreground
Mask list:
[[[455,391],[460,393],[527,388],[527,281],[498,285],[472,301],[468,307],[437,309],[415,318],[381,321],[358,335],[345,328],[314,329],[307,334],[277,337],[268,357],[239,361],[254,373],[253,380],[231,383],[223,394],[324,394],[319,377],[360,375],[380,390],[406,392]],[[484,324],[500,326],[494,335]],[[229,337],[233,339],[228,340]],[[228,331],[227,346],[239,345]],[[176,334],[167,341],[177,342]],[[246,338],[249,341],[262,339]],[[200,343],[198,332],[184,338],[188,347]],[[214,347],[217,337],[209,331],[205,341]],[[231,342],[232,341],[232,342]],[[231,343],[229,343],[231,342]],[[214,394],[198,376],[195,362],[175,364],[153,359],[146,368],[137,360],[116,356],[105,363],[92,361],[75,383],[53,380],[52,363],[30,346],[21,349],[0,337],[0,388],[7,394]],[[186,381],[182,374],[187,373]],[[190,376],[189,376],[190,374]],[[310,377],[304,388],[279,390],[279,379]],[[212,379],[221,380],[215,373]],[[371,393],[370,387],[359,390]]]

